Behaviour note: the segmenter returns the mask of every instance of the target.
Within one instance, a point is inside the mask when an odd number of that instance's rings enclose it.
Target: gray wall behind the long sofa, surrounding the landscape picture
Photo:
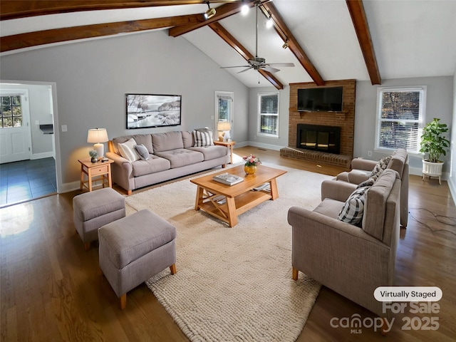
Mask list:
[[[0,63],[1,80],[56,83],[54,115],[59,128],[68,127],[68,132],[58,133],[62,182],[73,182],[71,187],[80,177],[78,159],[88,157],[92,147],[86,142],[90,128],[106,128],[109,138],[213,128],[215,90],[234,92],[232,135],[248,140],[248,88],[185,38],[169,37],[165,31],[39,48],[1,56]],[[182,125],[126,130],[125,93],[181,94]]]

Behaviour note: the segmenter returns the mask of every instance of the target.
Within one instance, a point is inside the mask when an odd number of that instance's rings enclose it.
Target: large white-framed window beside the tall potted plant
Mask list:
[[[420,150],[426,87],[378,88],[376,148]]]

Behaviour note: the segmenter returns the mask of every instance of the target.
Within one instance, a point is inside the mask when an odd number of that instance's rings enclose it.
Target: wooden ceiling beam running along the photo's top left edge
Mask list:
[[[239,1],[239,0],[234,0]],[[226,0],[211,0],[212,4]],[[140,7],[179,6],[204,4],[204,0],[1,0],[0,20],[19,19],[27,16],[99,11],[106,9],[134,9]]]

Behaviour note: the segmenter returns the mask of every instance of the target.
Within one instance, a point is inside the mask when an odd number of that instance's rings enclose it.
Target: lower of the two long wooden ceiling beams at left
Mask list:
[[[18,48],[30,48],[32,46],[44,44],[60,43],[62,41],[74,41],[76,39],[111,36],[119,33],[147,31],[157,28],[193,24],[199,20],[199,15],[191,14],[189,16],[170,16],[158,19],[119,21],[116,23],[73,26],[21,33],[13,36],[1,37],[0,52],[16,50]]]

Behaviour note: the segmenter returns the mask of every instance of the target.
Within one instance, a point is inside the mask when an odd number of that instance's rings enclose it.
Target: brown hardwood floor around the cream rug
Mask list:
[[[263,162],[327,175],[341,171],[257,147],[234,153],[238,160],[254,153]],[[0,209],[0,340],[188,341],[145,284],[128,293],[127,308],[120,311],[117,296],[98,270],[96,244],[84,251],[73,225],[72,199],[78,193]],[[410,176],[409,202],[395,285],[440,287],[439,312],[411,314],[408,308],[405,314],[395,314],[386,338],[373,328],[351,333],[350,328],[332,328],[331,318],[375,316],[323,286],[297,341],[455,341],[456,207],[446,182],[438,185],[435,179],[422,181],[418,176]],[[436,317],[438,329],[403,330],[403,318],[413,318],[417,327],[425,323],[424,317]]]

